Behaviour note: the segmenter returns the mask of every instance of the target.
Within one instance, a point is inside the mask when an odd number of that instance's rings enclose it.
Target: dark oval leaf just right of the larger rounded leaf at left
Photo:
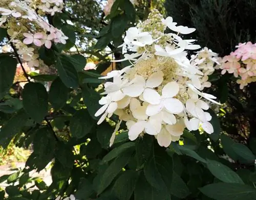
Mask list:
[[[49,91],[49,102],[52,104],[55,110],[59,110],[66,104],[68,96],[69,89],[63,84],[63,82],[58,77],[51,84]]]

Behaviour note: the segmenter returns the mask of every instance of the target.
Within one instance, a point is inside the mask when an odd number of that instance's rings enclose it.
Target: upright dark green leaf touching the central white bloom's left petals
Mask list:
[[[94,114],[101,107],[99,105],[100,95],[95,90],[88,88],[88,86],[84,84],[82,85],[82,97],[83,102],[86,105],[91,117],[97,119],[97,117],[95,117]]]

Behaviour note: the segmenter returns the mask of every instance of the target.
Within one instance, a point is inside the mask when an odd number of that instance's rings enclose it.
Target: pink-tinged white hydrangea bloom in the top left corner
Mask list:
[[[3,0],[0,2],[0,27],[7,29],[11,41],[20,57],[29,67],[39,66],[38,49],[52,43],[66,44],[61,30],[54,28],[45,19],[45,14],[53,15],[63,9],[62,0]]]

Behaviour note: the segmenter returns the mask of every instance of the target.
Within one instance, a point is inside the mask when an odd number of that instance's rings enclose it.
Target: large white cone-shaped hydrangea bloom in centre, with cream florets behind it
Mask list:
[[[167,27],[174,33],[165,34]],[[201,126],[208,134],[214,132],[211,116],[205,112],[209,105],[201,97],[219,104],[215,96],[202,92],[210,86],[207,76],[214,70],[217,55],[205,48],[191,60],[187,58],[186,50],[200,46],[180,35],[194,31],[177,26],[172,17],[163,19],[157,10],[127,30],[121,46],[129,46],[135,53],[124,54],[118,61],[130,60],[132,65],[100,78],[113,78],[113,82],[104,84],[102,94],[106,96],[100,99],[102,107],[95,113],[102,114],[98,124],[113,114],[120,119],[110,145],[121,121],[126,121],[130,140],[150,134],[165,147],[179,140],[185,128],[191,131]]]

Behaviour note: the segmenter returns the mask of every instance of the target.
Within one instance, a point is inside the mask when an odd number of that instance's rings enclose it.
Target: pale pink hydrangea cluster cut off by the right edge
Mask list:
[[[237,83],[243,89],[248,83],[256,81],[256,44],[239,43],[236,47],[236,51],[223,57],[219,68],[222,69],[221,74],[233,73],[239,78]]]

